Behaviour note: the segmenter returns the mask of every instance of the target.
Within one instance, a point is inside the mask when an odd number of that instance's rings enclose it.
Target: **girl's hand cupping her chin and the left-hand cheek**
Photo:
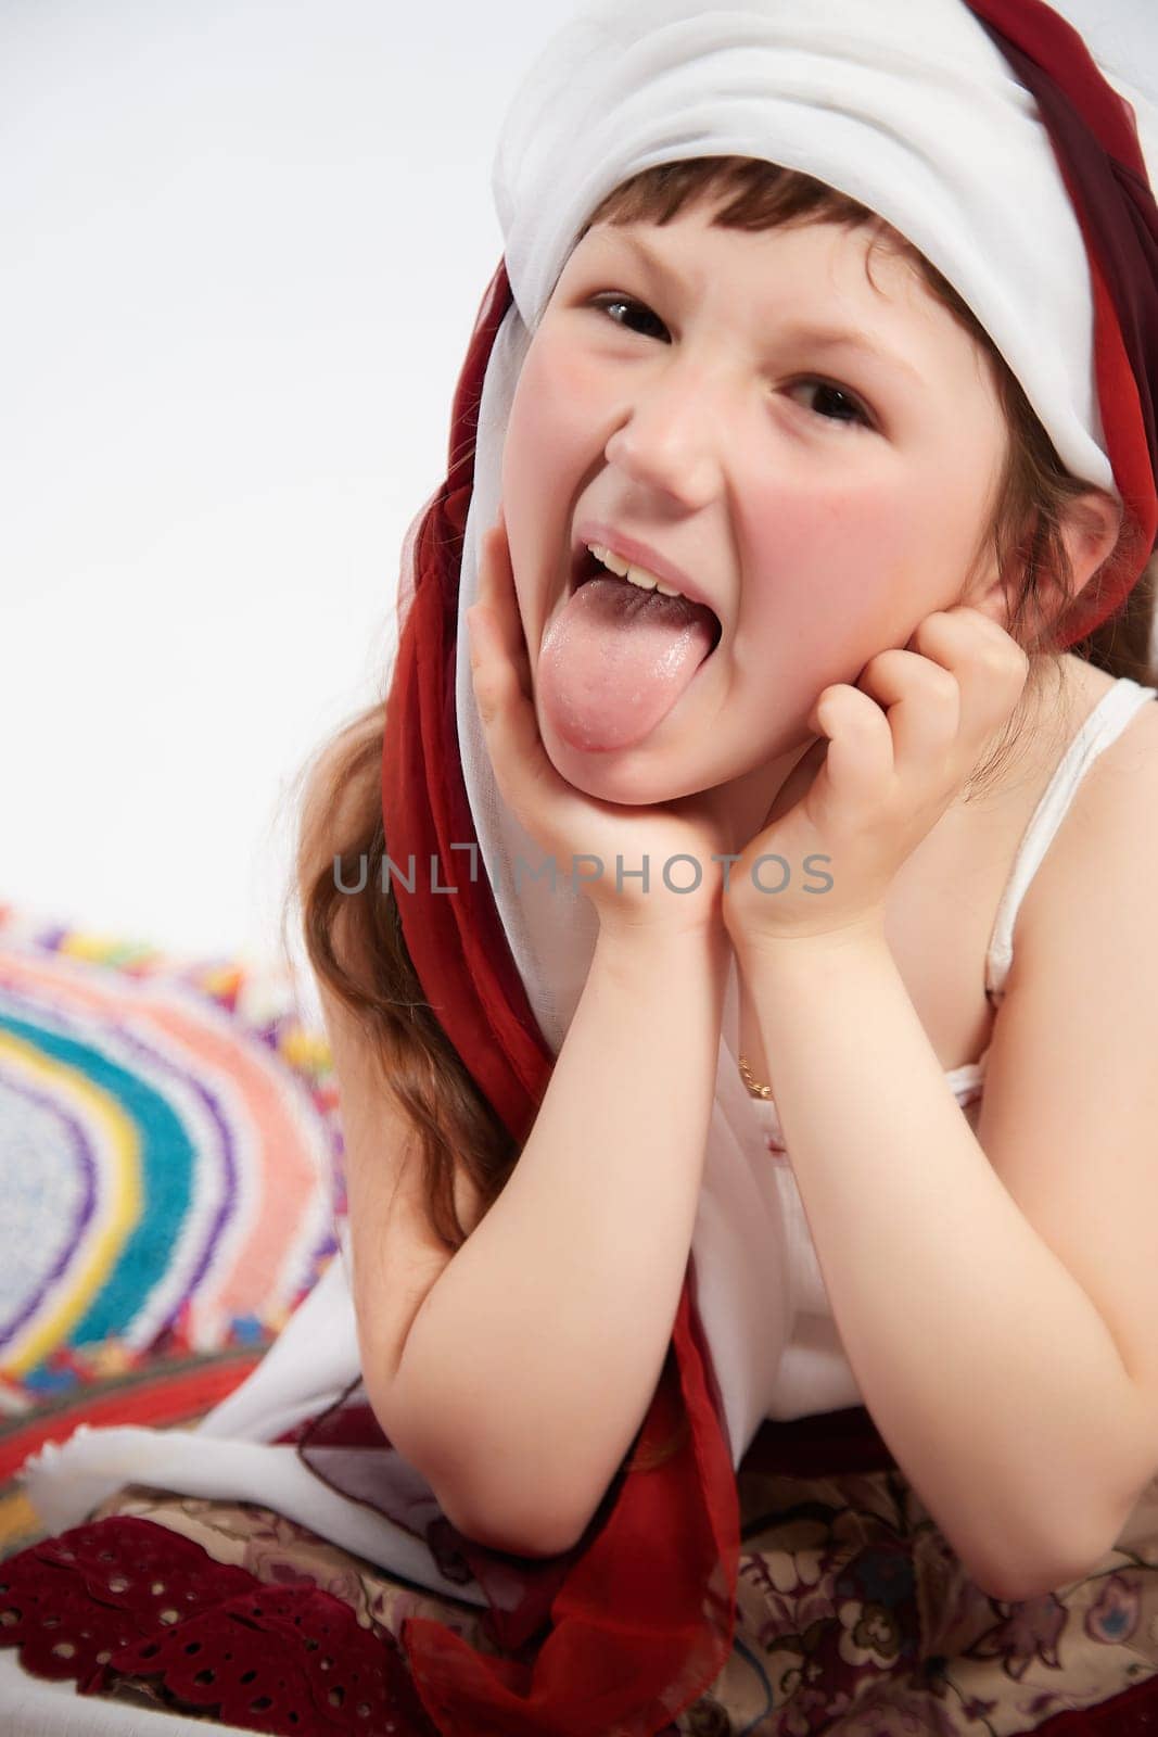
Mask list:
[[[708,801],[710,792],[661,806],[634,808],[604,802],[576,790],[559,775],[543,747],[535,716],[531,667],[510,568],[510,547],[502,509],[484,532],[479,551],[479,601],[467,610],[474,698],[486,733],[495,780],[519,823],[556,862],[556,882],[582,888],[601,928],[625,931],[715,929],[722,933],[724,867],[715,855],[734,849]],[[663,865],[674,862],[672,886]],[[616,891],[616,858],[623,860]],[[639,874],[648,860],[648,891]],[[696,882],[696,868],[700,881]],[[528,868],[538,870],[538,863]],[[693,889],[694,886],[694,889]],[[675,891],[672,889],[675,888]],[[688,888],[688,891],[677,891]]]

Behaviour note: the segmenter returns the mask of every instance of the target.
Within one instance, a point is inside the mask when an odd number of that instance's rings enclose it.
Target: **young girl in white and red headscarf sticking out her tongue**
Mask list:
[[[30,1468],[0,1640],[118,1730],[1148,1728],[1134,113],[1040,0],[616,0],[495,189],[302,825],[344,1259]]]

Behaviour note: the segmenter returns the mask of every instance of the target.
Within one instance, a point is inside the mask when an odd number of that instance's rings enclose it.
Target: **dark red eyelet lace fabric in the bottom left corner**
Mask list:
[[[200,1544],[128,1515],[0,1563],[0,1645],[82,1695],[144,1680],[179,1711],[307,1737],[438,1737],[394,1638],[313,1581],[262,1586]]]

